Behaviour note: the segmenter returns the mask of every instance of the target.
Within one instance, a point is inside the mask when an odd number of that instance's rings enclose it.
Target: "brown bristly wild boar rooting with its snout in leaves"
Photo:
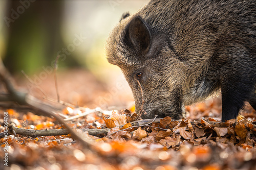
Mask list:
[[[155,0],[125,14],[106,45],[143,118],[184,116],[221,91],[222,121],[256,109],[256,1]]]

